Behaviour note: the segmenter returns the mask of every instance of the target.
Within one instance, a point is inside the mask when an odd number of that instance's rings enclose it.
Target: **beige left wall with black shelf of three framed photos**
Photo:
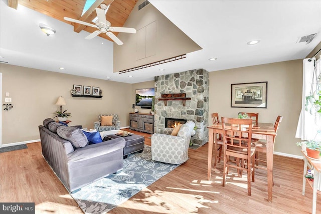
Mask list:
[[[10,111],[2,110],[2,144],[40,139],[38,125],[60,110],[60,106],[55,105],[59,96],[63,96],[67,103],[63,111],[68,109],[72,114],[70,125],[93,128],[100,113],[118,113],[120,126],[129,125],[127,115],[131,111],[131,84],[3,63],[0,64],[0,72],[3,73],[2,102],[5,103],[5,93],[9,92],[14,105]],[[70,90],[74,84],[99,87],[103,97],[72,97]]]

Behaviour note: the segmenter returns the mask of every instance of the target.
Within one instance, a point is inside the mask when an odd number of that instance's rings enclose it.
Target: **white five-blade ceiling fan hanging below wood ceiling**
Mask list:
[[[101,8],[101,9],[100,9]],[[98,36],[101,33],[106,34],[110,39],[112,39],[117,45],[122,45],[123,42],[121,42],[112,32],[121,32],[121,33],[131,33],[135,34],[136,29],[134,28],[124,28],[124,27],[112,27],[110,22],[106,20],[106,14],[105,11],[107,10],[107,5],[100,4],[100,8],[96,8],[96,14],[97,14],[97,20],[95,25],[91,23],[86,23],[83,21],[75,20],[72,18],[64,17],[64,20],[78,23],[81,25],[86,25],[89,27],[97,28],[97,31],[94,31],[90,35],[88,35],[85,39],[91,40],[92,38]]]

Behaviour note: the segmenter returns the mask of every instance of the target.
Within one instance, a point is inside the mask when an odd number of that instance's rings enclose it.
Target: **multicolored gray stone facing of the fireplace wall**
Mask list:
[[[161,94],[186,93],[191,100],[182,101],[158,100]],[[185,71],[155,77],[155,104],[154,130],[165,128],[165,118],[192,120],[197,126],[196,134],[192,137],[193,143],[204,145],[208,142],[208,115],[209,115],[209,74],[204,69]]]

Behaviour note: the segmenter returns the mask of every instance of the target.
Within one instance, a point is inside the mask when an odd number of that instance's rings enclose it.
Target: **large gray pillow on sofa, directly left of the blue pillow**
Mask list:
[[[59,126],[57,128],[57,134],[61,138],[70,141],[75,148],[81,148],[88,145],[86,135],[77,127]]]

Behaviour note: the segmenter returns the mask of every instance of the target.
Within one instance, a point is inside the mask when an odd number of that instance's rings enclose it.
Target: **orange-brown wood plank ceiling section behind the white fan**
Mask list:
[[[64,20],[64,17],[69,17],[83,22],[92,23],[91,21],[97,16],[95,8],[98,8],[101,3],[104,3],[107,6],[111,4],[106,14],[106,20],[108,20],[111,23],[111,26],[123,27],[132,9],[136,5],[137,0],[96,0],[96,2],[81,17],[85,3],[85,0],[8,0],[8,6],[11,8],[17,10],[18,4],[20,4],[39,13],[45,14],[62,22],[73,25],[74,31],[77,33],[79,33],[81,30],[92,33],[97,29],[66,21]],[[118,35],[117,32],[113,32],[113,34],[115,36]],[[112,41],[106,34],[100,34],[99,36],[109,41]]]

